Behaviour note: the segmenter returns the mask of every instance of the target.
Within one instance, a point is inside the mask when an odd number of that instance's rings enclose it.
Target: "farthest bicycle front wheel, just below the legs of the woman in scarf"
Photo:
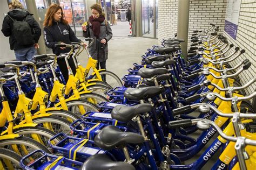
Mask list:
[[[109,84],[112,88],[123,86],[122,81],[113,72],[103,70],[99,72],[99,74],[102,76],[103,81]],[[92,76],[92,79],[96,79],[96,74]]]

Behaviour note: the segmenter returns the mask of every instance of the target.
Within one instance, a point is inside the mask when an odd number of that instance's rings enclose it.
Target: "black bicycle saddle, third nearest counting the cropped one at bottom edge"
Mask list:
[[[153,107],[151,104],[138,104],[132,107],[126,105],[117,105],[111,111],[111,117],[117,119],[117,121],[128,122],[139,114],[152,111]]]

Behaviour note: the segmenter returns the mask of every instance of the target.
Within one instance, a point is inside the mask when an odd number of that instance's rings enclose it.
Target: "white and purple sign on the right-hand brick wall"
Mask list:
[[[238,20],[241,0],[227,0],[226,18],[224,30],[233,39],[237,39]]]

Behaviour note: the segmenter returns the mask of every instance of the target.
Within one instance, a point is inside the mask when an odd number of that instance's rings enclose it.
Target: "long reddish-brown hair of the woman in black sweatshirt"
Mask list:
[[[62,8],[61,6],[59,6],[58,4],[51,4],[48,8],[48,10],[46,11],[46,15],[45,15],[45,19],[44,19],[44,26],[52,26],[53,24],[53,16],[55,15],[55,13]],[[62,18],[60,19],[60,22],[62,22],[63,24],[68,25],[69,22],[67,20],[64,19],[64,13],[62,10]]]

